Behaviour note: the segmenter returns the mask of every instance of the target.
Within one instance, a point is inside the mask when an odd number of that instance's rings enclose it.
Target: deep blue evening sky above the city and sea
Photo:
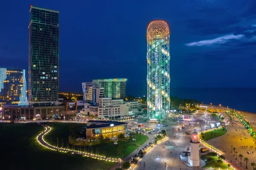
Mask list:
[[[60,11],[60,91],[127,78],[127,94],[146,94],[145,34],[155,19],[171,28],[171,87],[256,87],[255,0],[6,0],[0,67],[28,69],[31,4]]]

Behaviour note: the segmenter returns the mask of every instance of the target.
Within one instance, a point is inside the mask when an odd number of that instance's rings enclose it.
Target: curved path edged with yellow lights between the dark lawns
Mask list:
[[[38,124],[38,125],[40,125],[40,124]],[[44,132],[40,133],[37,136],[37,141],[39,142],[39,144],[46,147],[47,149],[55,150],[55,151],[63,152],[63,153],[83,155],[83,156],[87,156],[87,157],[90,157],[90,158],[99,159],[99,160],[102,160],[102,161],[119,162],[116,158],[106,158],[105,156],[99,156],[99,155],[96,155],[96,154],[85,153],[85,152],[80,152],[80,151],[77,151],[77,150],[70,150],[70,149],[65,149],[65,148],[61,148],[61,147],[52,146],[49,143],[45,142],[45,140],[44,140],[44,135],[49,133],[50,130],[51,130],[51,127],[49,127],[49,126],[45,127]]]

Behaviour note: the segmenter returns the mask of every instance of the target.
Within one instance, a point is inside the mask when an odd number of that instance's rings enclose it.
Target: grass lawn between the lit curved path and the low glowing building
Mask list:
[[[59,147],[61,146],[61,139],[63,139],[63,145],[64,148],[67,148],[67,141],[68,136],[70,135],[70,125],[67,123],[47,123],[48,126],[53,127],[52,130],[47,133],[46,136],[44,136],[45,141],[49,142],[50,144],[56,146],[57,145],[57,137],[59,138]],[[73,124],[74,125],[74,124]],[[85,125],[82,124],[76,124],[79,127],[84,127]],[[145,133],[144,133],[145,134]],[[140,139],[141,138],[141,139]],[[140,134],[136,134],[136,144],[143,144],[148,140],[148,136],[143,136]],[[128,141],[130,143],[128,143]],[[81,146],[81,151],[86,151],[87,153],[90,153],[91,151],[93,153],[96,153],[96,150],[99,151],[100,155],[103,155],[103,152],[105,152],[105,156],[111,157],[111,158],[117,158],[117,149],[121,148],[121,154],[118,156],[119,158],[125,158],[130,153],[132,153],[134,150],[136,150],[138,147],[134,143],[133,140],[125,140],[125,141],[118,141],[118,144],[113,144],[113,142],[106,141],[104,144],[99,145],[93,145],[93,146],[87,146],[83,147]],[[129,145],[129,146],[128,146]],[[142,146],[144,147],[144,146]],[[69,145],[69,149],[72,149],[72,145]],[[79,147],[80,149],[80,147]],[[75,150],[78,150],[78,147],[75,147]]]

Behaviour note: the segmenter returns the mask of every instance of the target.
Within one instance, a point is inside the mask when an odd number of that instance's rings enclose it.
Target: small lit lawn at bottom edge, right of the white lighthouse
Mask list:
[[[212,161],[207,161],[209,158],[212,158],[213,160]],[[209,156],[209,155],[202,155],[201,156],[201,159],[203,159],[205,161],[205,165],[204,165],[204,168],[211,168],[211,169],[219,169],[219,167],[221,169],[225,169],[227,170],[228,166],[227,166],[227,163],[225,163],[223,161],[222,164],[218,164],[217,163],[217,160],[218,160],[218,156]],[[232,169],[231,167],[229,169]]]

